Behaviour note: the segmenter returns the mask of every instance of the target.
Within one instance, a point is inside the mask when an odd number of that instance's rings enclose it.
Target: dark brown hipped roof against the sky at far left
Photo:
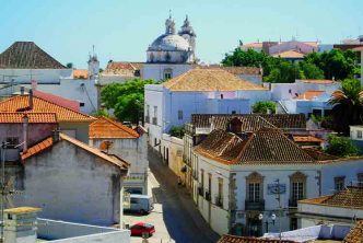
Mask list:
[[[33,42],[15,42],[0,54],[2,69],[66,69]]]

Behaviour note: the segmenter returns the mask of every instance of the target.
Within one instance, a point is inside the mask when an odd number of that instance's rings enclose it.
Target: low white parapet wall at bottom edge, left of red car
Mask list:
[[[38,218],[37,235],[51,242],[130,242],[129,230]]]

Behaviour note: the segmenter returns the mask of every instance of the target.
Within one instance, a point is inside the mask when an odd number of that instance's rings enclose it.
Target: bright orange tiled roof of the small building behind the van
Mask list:
[[[138,138],[139,134],[106,117],[101,117],[90,125],[90,138]]]

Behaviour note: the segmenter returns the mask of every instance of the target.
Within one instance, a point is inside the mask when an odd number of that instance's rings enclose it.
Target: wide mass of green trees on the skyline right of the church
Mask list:
[[[351,50],[332,49],[325,53],[312,53],[305,56],[298,65],[271,57],[264,51],[241,48],[232,54],[225,54],[223,66],[262,67],[266,82],[294,82],[295,79],[332,79],[344,80],[360,72],[354,65],[356,55]]]

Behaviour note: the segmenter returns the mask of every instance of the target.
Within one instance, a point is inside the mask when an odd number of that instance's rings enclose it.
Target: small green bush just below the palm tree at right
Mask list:
[[[346,137],[329,135],[326,152],[337,157],[354,157],[359,154],[356,146]]]

